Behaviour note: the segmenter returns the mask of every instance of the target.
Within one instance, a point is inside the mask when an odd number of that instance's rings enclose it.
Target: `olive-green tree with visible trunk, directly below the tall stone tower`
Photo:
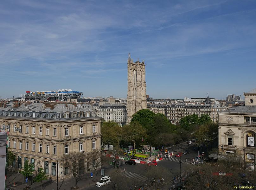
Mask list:
[[[125,131],[126,141],[133,142],[133,149],[135,149],[135,141],[145,138],[147,135],[145,128],[136,121],[131,122],[130,125],[125,125],[123,128]]]

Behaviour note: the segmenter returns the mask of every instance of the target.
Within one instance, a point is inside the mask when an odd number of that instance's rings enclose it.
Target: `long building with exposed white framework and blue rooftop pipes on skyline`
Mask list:
[[[57,91],[26,91],[22,94],[25,100],[48,100],[48,101],[68,101],[70,98],[82,98],[83,92],[72,91],[71,89],[59,89]]]

